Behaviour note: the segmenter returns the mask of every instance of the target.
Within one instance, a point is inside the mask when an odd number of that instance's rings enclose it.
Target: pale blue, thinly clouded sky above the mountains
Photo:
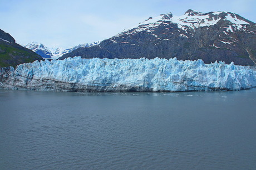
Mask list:
[[[228,11],[256,22],[255,0],[0,0],[0,29],[26,45],[71,48],[110,38],[149,17],[188,9]]]

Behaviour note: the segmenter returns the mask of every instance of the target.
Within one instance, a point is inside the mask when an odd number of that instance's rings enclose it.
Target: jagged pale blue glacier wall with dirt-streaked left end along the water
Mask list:
[[[256,69],[202,60],[82,59],[34,61],[0,69],[0,88],[78,92],[212,91],[256,87]]]

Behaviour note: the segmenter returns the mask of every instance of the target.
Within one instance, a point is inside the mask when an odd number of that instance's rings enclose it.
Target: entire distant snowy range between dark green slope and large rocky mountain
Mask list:
[[[31,42],[27,45],[25,45],[25,48],[31,49],[35,51],[38,55],[41,55],[42,58],[45,59],[58,59],[60,58],[63,54],[70,53],[71,51],[80,48],[80,47],[91,47],[92,45],[97,45],[100,42],[94,42],[94,43],[85,43],[85,44],[79,44],[76,45],[75,47],[68,48],[68,49],[63,49],[61,47],[58,48],[47,48],[45,45],[37,42]]]

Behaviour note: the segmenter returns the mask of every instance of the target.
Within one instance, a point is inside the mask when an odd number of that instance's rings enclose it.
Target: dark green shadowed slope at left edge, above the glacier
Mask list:
[[[35,60],[42,60],[42,57],[17,44],[10,34],[0,29],[0,66],[15,67]]]

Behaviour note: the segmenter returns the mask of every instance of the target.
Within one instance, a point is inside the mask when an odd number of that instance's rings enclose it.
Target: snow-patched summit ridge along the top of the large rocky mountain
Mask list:
[[[135,32],[140,32],[143,30],[150,30],[159,27],[161,24],[174,23],[177,24],[179,28],[192,28],[196,29],[199,27],[209,27],[218,23],[220,20],[227,20],[230,25],[233,25],[236,29],[241,29],[243,24],[255,24],[250,20],[247,20],[238,14],[231,12],[209,12],[202,13],[198,11],[193,11],[189,9],[184,13],[183,16],[173,16],[172,13],[161,14],[158,17],[149,17],[144,22],[139,23],[133,28],[124,30],[119,34],[130,32],[130,30]],[[229,29],[229,28],[227,28]]]

